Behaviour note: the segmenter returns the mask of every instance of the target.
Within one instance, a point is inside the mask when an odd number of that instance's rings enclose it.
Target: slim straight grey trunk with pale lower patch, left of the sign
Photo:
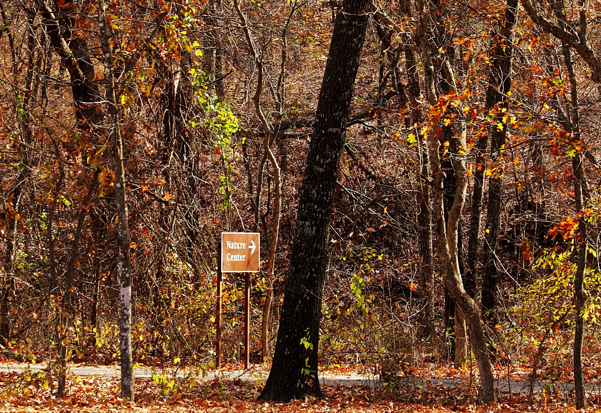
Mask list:
[[[112,158],[115,166],[115,200],[117,201],[117,246],[119,249],[119,349],[121,353],[121,397],[133,402],[132,362],[132,262],[130,259],[129,226],[127,224],[127,194],[123,169],[123,141],[118,123],[117,98],[110,36],[106,25],[105,2],[100,0],[98,26],[105,66],[105,99],[108,106],[108,134],[112,141]]]

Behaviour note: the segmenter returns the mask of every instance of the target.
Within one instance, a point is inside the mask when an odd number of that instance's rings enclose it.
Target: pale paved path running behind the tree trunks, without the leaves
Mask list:
[[[25,368],[29,367],[31,370],[43,370],[47,366],[44,364],[3,364],[0,365],[0,372],[7,373],[20,373]],[[70,371],[76,376],[104,376],[104,377],[119,377],[121,375],[121,371],[118,367],[91,367],[91,366],[75,366],[70,367]],[[160,371],[158,371],[160,373]],[[188,371],[189,372],[189,371]],[[153,370],[151,368],[136,368],[135,369],[136,377],[152,377]],[[183,371],[178,371],[178,376],[183,376]],[[234,371],[208,371],[206,376],[201,377],[198,376],[199,379],[204,380],[213,380],[215,377],[221,377],[221,379],[225,380],[235,380],[240,379],[246,382],[254,382],[256,380],[266,380],[267,374],[260,373],[256,369],[251,368],[248,371],[243,370],[234,370]],[[327,385],[368,385],[373,386],[377,377],[374,376],[360,376],[357,374],[330,374],[330,373],[322,373],[320,374],[320,382]],[[414,382],[408,381],[407,383],[411,383],[414,387],[427,387],[429,384],[426,379],[415,380]],[[433,378],[430,379],[430,383],[433,387],[442,386],[444,388],[465,388],[466,380],[465,379],[443,379],[443,378]],[[536,393],[540,393],[542,391],[542,386],[546,384],[545,381],[537,381],[535,383],[534,391]],[[516,393],[518,391],[528,392],[529,383],[528,382],[507,382],[507,380],[498,380],[496,382],[497,388],[499,391],[508,393]],[[566,392],[573,390],[574,385],[572,383],[556,383],[555,387],[558,390]],[[593,383],[587,383],[588,391],[601,391],[599,385],[594,385]]]

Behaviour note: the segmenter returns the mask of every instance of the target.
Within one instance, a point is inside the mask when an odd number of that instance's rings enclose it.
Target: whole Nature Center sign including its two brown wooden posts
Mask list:
[[[244,368],[248,369],[251,321],[251,275],[261,262],[258,232],[222,232],[217,252],[217,366],[221,367],[221,294],[222,273],[244,275]]]

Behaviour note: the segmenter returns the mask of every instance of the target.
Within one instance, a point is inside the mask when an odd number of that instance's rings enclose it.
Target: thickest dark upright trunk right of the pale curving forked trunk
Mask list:
[[[517,0],[507,0],[505,22],[492,50],[493,64],[490,70],[490,84],[486,92],[486,105],[493,109],[498,105],[499,114],[495,117],[492,129],[490,158],[492,175],[489,179],[489,197],[486,213],[486,235],[484,235],[484,275],[482,284],[482,312],[489,323],[495,321],[496,282],[499,275],[498,243],[501,234],[503,209],[503,179],[501,147],[505,144],[507,125],[502,121],[502,109],[507,108],[507,92],[511,90],[511,30],[516,22]],[[475,225],[476,223],[474,223]]]

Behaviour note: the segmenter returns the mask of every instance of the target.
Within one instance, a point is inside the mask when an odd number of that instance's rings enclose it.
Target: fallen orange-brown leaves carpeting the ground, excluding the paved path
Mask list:
[[[29,380],[27,379],[29,377]],[[0,411],[3,413],[40,412],[298,412],[298,413],[375,413],[375,412],[576,412],[576,409],[557,397],[540,395],[533,406],[522,395],[501,394],[499,402],[482,405],[462,403],[466,392],[460,388],[416,388],[410,399],[399,401],[382,388],[345,385],[323,385],[323,399],[291,400],[288,403],[257,400],[264,382],[236,380],[192,380],[186,388],[172,387],[156,379],[136,379],[136,400],[122,400],[118,377],[70,376],[68,393],[63,397],[50,394],[39,377],[0,373]],[[385,388],[385,387],[384,387]],[[409,393],[405,393],[409,394]],[[454,396],[454,397],[453,397]],[[411,399],[412,398],[412,399]],[[465,401],[465,400],[464,400]],[[591,403],[598,400],[590,400]],[[588,412],[599,412],[593,408]]]

